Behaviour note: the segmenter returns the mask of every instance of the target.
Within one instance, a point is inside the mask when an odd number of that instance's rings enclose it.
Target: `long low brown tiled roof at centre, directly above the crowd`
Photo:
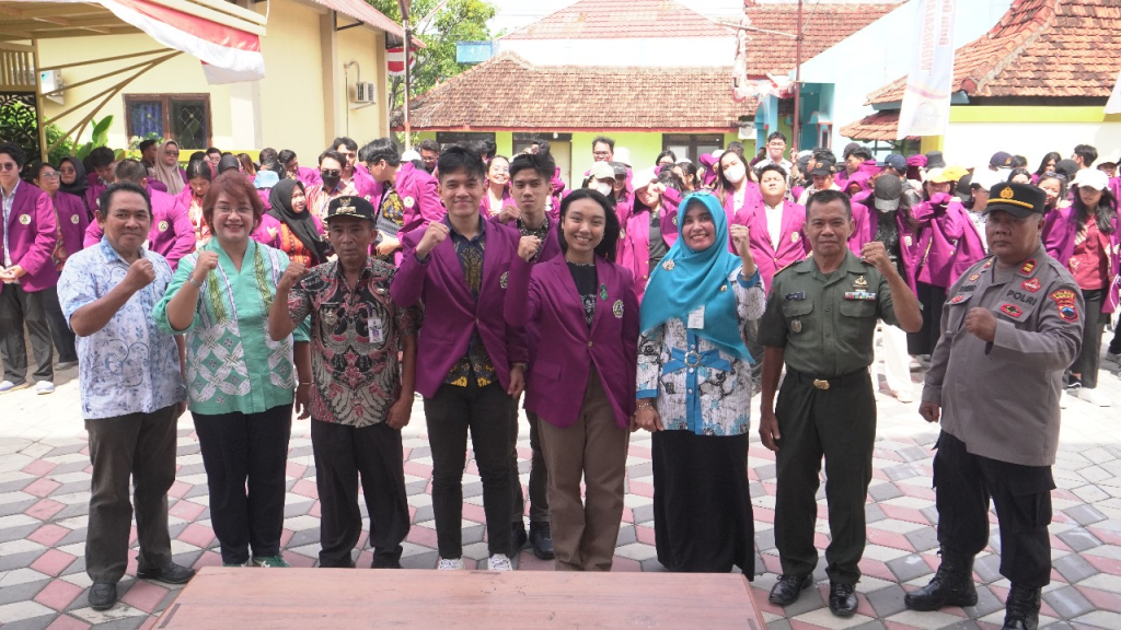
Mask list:
[[[503,53],[413,100],[415,130],[731,131],[732,68],[539,66]],[[395,114],[393,129],[401,128]]]

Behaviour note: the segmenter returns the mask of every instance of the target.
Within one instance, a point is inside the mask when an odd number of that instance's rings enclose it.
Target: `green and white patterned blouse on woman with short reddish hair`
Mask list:
[[[187,399],[193,413],[258,414],[290,405],[296,389],[293,342],[307,341],[305,326],[280,341],[269,337],[269,307],[277,282],[288,267],[278,249],[250,240],[239,271],[217,243],[201,251],[217,252],[219,266],[198,291],[195,318],[186,331],[174,331],[167,304],[191,277],[197,253],[179,260],[172,284],[152,316],[165,333],[183,333],[187,345]]]

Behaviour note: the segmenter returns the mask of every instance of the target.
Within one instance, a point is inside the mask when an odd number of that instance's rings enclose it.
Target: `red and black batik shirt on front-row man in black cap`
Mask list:
[[[288,315],[312,316],[312,419],[364,427],[386,420],[401,395],[397,351],[416,335],[423,311],[389,297],[397,268],[367,258],[352,289],[339,261],[312,269],[293,287]]]

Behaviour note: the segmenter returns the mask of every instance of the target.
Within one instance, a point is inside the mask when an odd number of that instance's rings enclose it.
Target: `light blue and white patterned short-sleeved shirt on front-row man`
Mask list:
[[[167,260],[143,250],[156,279],[129,298],[105,327],[77,337],[82,417],[113,418],[151,414],[186,399],[175,337],[159,332],[156,303],[172,281]],[[58,279],[58,302],[70,322],[74,312],[104,297],[128,274],[129,263],[101,239],[66,260]]]

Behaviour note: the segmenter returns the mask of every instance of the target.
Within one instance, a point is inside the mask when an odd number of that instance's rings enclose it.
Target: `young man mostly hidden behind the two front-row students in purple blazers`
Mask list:
[[[510,163],[510,189],[515,204],[506,206],[491,217],[492,222],[516,228],[522,237],[535,237],[537,250],[530,265],[547,262],[560,256],[560,240],[557,238],[557,221],[549,216],[552,177],[556,172],[553,157],[545,154],[520,155]],[[558,206],[559,207],[559,206]],[[526,344],[537,346],[539,331],[536,323],[526,328]],[[530,355],[532,364],[532,355]],[[541,453],[538,423],[540,416],[526,410],[529,420],[529,448],[532,453],[529,469],[529,535],[522,522],[525,499],[518,474],[518,402],[513,401],[510,414],[510,490],[513,497],[511,512],[512,550],[517,554],[528,540],[534,546],[534,555],[543,560],[554,557],[553,532],[549,527],[548,472]]]

